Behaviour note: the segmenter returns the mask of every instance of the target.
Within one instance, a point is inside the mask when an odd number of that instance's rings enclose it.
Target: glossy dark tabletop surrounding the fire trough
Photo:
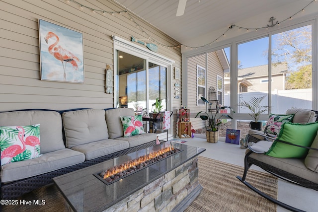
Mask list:
[[[172,147],[181,151],[157,163],[146,166],[125,178],[106,185],[93,174],[120,165],[129,160],[158,151],[163,147]],[[127,155],[92,165],[62,176],[53,178],[54,183],[74,211],[103,211],[123,200],[164,174],[182,165],[186,161],[205,151],[204,148],[176,142],[164,142]]]

